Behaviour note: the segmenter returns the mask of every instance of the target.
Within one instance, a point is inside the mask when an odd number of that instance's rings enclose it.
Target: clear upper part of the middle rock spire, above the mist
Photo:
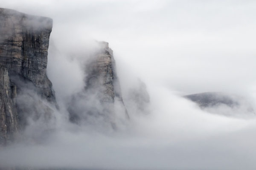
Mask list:
[[[86,65],[85,88],[97,92],[100,100],[104,102],[114,102],[115,98],[122,101],[113,51],[108,47],[108,42],[99,42],[99,45],[99,53]]]

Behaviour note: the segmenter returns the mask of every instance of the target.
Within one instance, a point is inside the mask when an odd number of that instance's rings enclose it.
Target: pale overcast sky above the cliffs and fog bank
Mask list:
[[[120,70],[184,94],[247,92],[255,83],[253,0],[1,0],[1,7],[51,17],[52,38],[71,45],[107,41]]]

